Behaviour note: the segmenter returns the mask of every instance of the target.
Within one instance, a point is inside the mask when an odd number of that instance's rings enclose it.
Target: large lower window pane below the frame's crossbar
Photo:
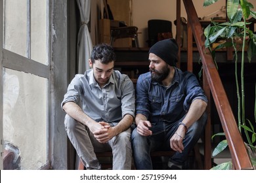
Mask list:
[[[47,162],[47,78],[3,68],[4,169],[39,169]]]

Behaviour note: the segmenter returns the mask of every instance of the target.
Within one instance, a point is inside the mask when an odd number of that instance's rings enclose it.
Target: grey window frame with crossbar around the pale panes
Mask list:
[[[51,132],[51,90],[52,90],[52,78],[53,78],[53,72],[51,71],[51,57],[50,57],[50,48],[49,45],[50,42],[50,29],[49,29],[49,0],[47,0],[47,58],[48,58],[48,65],[44,65],[43,63],[39,63],[37,61],[34,61],[33,59],[30,59],[30,50],[31,50],[31,0],[27,0],[27,7],[28,7],[28,15],[27,15],[27,34],[28,34],[28,40],[27,40],[27,57],[20,56],[14,52],[11,52],[9,50],[6,50],[3,48],[3,12],[4,10],[4,1],[3,3],[0,3],[0,44],[1,44],[1,51],[0,51],[0,103],[3,104],[3,67],[16,70],[16,71],[22,71],[24,73],[30,73],[32,75],[40,76],[43,78],[48,79],[48,93],[47,93],[47,163],[41,167],[40,169],[49,169],[51,167],[51,144],[50,144],[50,132]],[[0,169],[3,169],[3,105],[0,105],[0,131],[1,131],[1,158],[0,158]]]

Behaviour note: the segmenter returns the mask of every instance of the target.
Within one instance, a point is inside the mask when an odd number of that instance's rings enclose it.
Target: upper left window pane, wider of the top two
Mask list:
[[[27,0],[5,0],[3,48],[27,56]]]

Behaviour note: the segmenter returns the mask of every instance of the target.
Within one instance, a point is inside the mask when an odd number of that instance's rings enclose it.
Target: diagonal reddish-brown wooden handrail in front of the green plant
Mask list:
[[[240,131],[238,130],[238,125],[234,118],[232,108],[230,107],[226,92],[223,88],[221,78],[217,68],[215,67],[215,63],[209,49],[205,49],[205,38],[194,4],[192,3],[192,0],[183,0],[183,3],[186,8],[186,13],[189,15],[188,24],[190,24],[198,47],[198,52],[202,59],[203,71],[205,72],[204,75],[209,84],[209,88],[213,95],[213,100],[228,141],[228,148],[230,149],[234,169],[253,169],[244,141]]]

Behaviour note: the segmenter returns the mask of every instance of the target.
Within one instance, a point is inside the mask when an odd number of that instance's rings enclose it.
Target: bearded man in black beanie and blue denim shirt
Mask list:
[[[136,169],[153,169],[150,152],[171,149],[169,169],[182,169],[203,132],[207,97],[195,75],[175,67],[177,54],[174,39],[156,42],[149,50],[150,72],[138,78],[131,135]]]

